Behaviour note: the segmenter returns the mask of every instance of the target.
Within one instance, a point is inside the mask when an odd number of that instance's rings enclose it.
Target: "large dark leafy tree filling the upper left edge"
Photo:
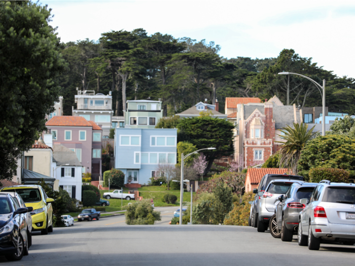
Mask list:
[[[45,116],[59,101],[58,77],[66,64],[47,6],[2,1],[0,17],[0,179],[11,180],[17,159],[37,132],[46,130]]]

